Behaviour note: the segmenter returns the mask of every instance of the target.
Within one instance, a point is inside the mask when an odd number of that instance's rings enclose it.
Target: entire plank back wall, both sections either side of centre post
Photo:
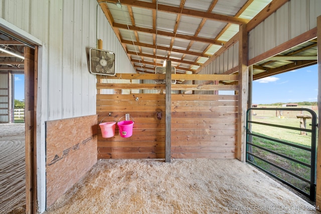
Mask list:
[[[98,127],[98,158],[165,158],[165,84],[154,83],[162,79],[165,75],[97,76],[98,123],[118,121],[125,114],[134,120],[128,138],[119,135],[117,125],[113,137],[103,138]],[[172,84],[171,157],[235,158],[238,95],[218,95],[218,91],[238,91],[238,75],[172,74],[172,79],[206,80],[207,84]],[[113,80],[140,83],[111,83]],[[236,84],[214,85],[218,81]],[[139,93],[131,93],[133,90]],[[198,94],[202,91],[211,94]]]

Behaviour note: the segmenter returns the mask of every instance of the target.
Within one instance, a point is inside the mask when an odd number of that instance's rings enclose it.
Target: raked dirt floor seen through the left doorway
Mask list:
[[[25,124],[0,124],[0,213],[25,213]]]

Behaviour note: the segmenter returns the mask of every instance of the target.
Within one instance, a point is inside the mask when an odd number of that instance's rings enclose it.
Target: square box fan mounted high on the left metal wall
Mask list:
[[[115,53],[96,48],[89,50],[90,73],[114,76]]]

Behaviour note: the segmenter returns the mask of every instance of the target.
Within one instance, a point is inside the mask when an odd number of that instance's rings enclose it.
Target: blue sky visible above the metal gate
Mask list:
[[[253,104],[317,101],[317,65],[253,81]]]

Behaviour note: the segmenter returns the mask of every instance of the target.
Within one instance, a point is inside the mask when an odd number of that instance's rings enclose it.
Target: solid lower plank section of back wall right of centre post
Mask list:
[[[235,158],[235,95],[172,95],[173,158]]]

